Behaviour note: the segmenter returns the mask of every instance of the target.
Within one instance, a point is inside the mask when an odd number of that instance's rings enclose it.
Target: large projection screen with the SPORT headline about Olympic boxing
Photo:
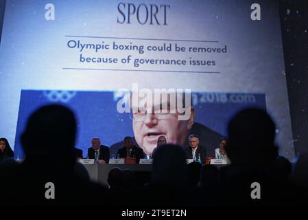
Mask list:
[[[0,135],[16,152],[29,112],[63,102],[48,99],[53,91],[67,93],[78,115],[76,146],[133,135],[113,96],[138,83],[254,95],[255,103],[202,105],[197,121],[225,134],[230,115],[257,103],[276,121],[281,155],[294,157],[277,1],[7,0],[0,82]]]

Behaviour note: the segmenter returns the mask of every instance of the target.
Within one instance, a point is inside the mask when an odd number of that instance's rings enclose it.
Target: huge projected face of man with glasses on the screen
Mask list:
[[[157,146],[158,137],[165,136],[169,143],[185,144],[187,134],[193,124],[195,114],[191,108],[189,120],[178,120],[178,112],[175,113],[133,113],[132,128],[137,144],[143,148],[145,154],[152,155]]]

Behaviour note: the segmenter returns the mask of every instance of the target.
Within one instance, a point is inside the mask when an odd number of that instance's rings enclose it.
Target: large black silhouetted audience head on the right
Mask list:
[[[270,166],[277,157],[275,124],[261,109],[245,109],[228,124],[226,152],[232,164]]]

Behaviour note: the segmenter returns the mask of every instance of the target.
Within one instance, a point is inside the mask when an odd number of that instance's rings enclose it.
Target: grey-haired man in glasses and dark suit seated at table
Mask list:
[[[187,159],[199,159],[204,164],[206,158],[206,148],[199,145],[199,137],[198,135],[191,134],[188,137],[189,146],[185,148],[185,153],[187,155]]]

